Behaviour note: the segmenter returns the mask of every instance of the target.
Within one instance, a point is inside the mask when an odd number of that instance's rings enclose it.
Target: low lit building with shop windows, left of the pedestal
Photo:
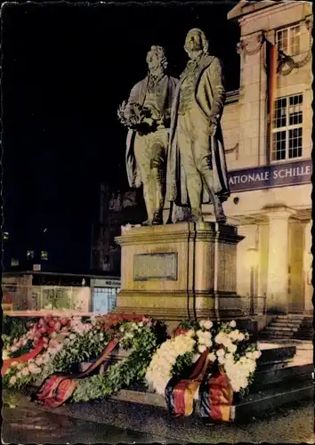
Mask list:
[[[4,303],[13,314],[106,314],[116,305],[120,279],[43,271],[4,272]],[[3,307],[6,310],[6,306]]]

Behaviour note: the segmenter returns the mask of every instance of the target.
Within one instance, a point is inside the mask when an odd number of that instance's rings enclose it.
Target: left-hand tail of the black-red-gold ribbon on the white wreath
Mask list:
[[[172,377],[166,384],[166,405],[171,416],[188,417],[194,412],[195,394],[204,380],[209,365],[208,354],[208,350],[202,353],[193,365],[189,377]]]

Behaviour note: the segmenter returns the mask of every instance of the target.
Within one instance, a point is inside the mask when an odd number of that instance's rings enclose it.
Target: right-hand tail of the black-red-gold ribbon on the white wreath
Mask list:
[[[209,374],[199,388],[201,417],[210,417],[214,422],[232,421],[233,389],[230,379],[221,365]]]

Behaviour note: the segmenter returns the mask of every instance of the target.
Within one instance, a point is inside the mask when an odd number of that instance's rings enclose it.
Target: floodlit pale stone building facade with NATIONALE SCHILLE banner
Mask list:
[[[238,294],[265,295],[271,313],[312,311],[311,4],[239,2],[240,86],[222,132],[238,245]],[[204,212],[212,211],[205,206]]]

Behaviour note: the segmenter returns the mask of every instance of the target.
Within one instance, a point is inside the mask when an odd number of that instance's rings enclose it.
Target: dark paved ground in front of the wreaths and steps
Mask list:
[[[25,396],[4,392],[3,417],[6,443],[314,443],[314,408],[306,401],[242,425],[204,425],[198,417],[174,419],[165,409],[123,401],[43,410]]]

